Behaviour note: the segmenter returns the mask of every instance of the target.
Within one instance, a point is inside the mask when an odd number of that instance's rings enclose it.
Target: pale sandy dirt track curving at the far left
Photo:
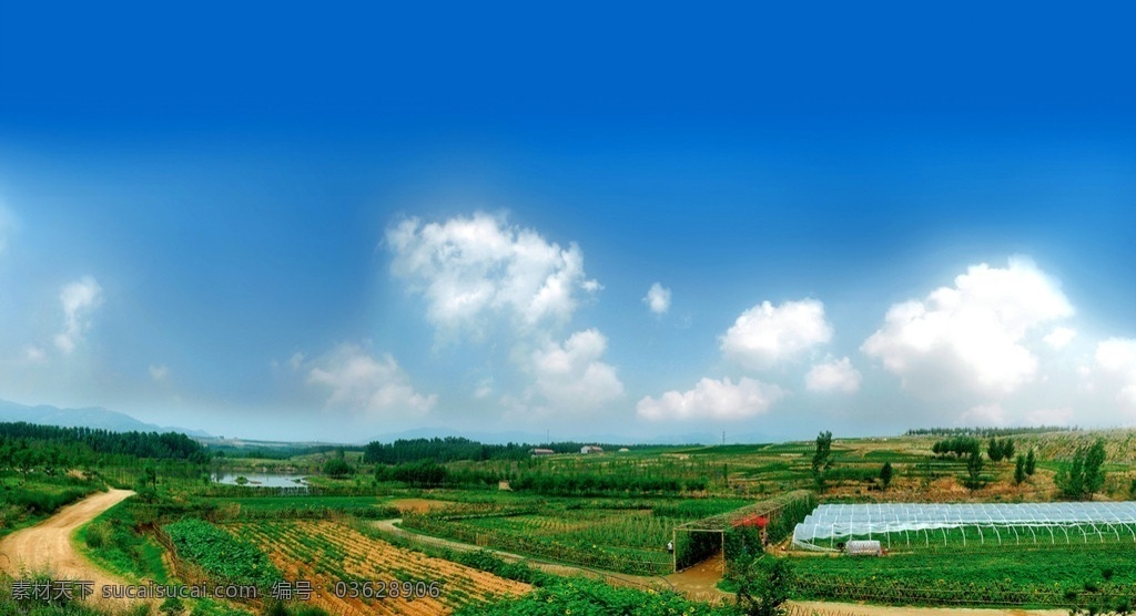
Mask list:
[[[132,490],[99,492],[59,509],[39,524],[18,530],[0,540],[0,571],[20,577],[20,569],[32,573],[48,571],[52,580],[77,580],[94,583],[93,597],[100,597],[107,584],[126,584],[94,566],[72,546],[72,534],[99,514],[133,496]]]

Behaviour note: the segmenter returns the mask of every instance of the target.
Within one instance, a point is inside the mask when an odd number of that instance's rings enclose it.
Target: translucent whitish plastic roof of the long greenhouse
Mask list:
[[[1095,528],[1097,524],[1108,528],[1136,524],[1136,503],[821,505],[796,525],[793,543],[818,548],[817,541],[963,526]]]

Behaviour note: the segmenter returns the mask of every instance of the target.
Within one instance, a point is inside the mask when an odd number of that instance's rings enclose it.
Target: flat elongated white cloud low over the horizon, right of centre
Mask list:
[[[761,415],[785,391],[743,377],[735,385],[725,378],[702,378],[690,391],[667,391],[659,399],[641,399],[635,410],[648,420],[742,420]]]

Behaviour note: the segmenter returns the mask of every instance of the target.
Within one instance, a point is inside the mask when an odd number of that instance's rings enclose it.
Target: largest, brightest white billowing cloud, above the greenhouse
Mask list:
[[[1037,371],[1026,334],[1072,313],[1058,282],[1031,261],[1011,258],[1004,269],[974,265],[953,287],[893,305],[861,349],[912,391],[1003,395]]]

